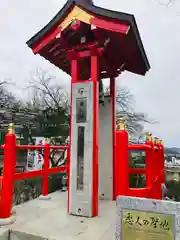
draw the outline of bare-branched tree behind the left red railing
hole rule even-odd
[[[62,145],[64,144],[65,138],[67,137],[67,129],[69,129],[69,97],[65,89],[56,83],[56,78],[51,76],[48,72],[43,70],[36,70],[35,74],[31,75],[29,82],[29,89],[32,91],[32,98],[30,101],[24,104],[26,112],[32,112],[35,116],[34,125],[38,125],[39,132],[43,134],[43,129],[49,123],[53,124],[55,121],[55,131],[58,134],[62,132],[63,128],[66,128],[65,136],[50,137],[50,144]],[[65,126],[66,125],[66,126]],[[34,143],[32,137],[32,126],[27,125],[26,129],[29,133],[29,139],[32,144]],[[59,131],[61,130],[61,131]],[[41,151],[42,156],[44,155]],[[56,149],[50,152],[51,165],[59,166],[64,164],[65,153]]]

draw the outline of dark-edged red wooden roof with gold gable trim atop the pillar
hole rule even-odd
[[[78,9],[81,11],[81,15],[79,15],[80,19],[78,19],[81,21],[81,28],[75,33],[69,29],[70,23],[68,22],[69,19],[73,17],[72,12],[75,12],[74,9],[76,12]],[[84,18],[82,18],[82,15]],[[103,59],[101,61],[101,78],[103,78],[103,72],[106,72],[107,70],[105,67],[106,64],[115,66],[116,69],[114,70],[114,73],[117,75],[120,74],[121,70],[145,75],[145,73],[150,69],[150,65],[134,16],[131,14],[96,7],[89,1],[84,2],[80,0],[69,0],[61,11],[59,11],[59,13],[49,22],[49,24],[47,24],[27,42],[27,45],[33,50],[36,49],[36,52],[34,51],[35,53],[40,54],[67,74],[70,74],[70,63],[67,59],[66,51],[70,47],[73,48],[76,46],[75,35],[77,41],[84,35],[86,38],[92,38],[92,40],[94,39],[99,41],[97,36],[94,35],[94,32],[91,32],[90,30],[92,22],[89,21],[92,21],[92,17],[94,19],[100,19],[100,21],[105,20],[110,23],[112,22],[115,27],[118,23],[122,24],[122,26],[129,26],[127,34],[117,32],[116,29],[113,31],[112,28],[97,28],[97,31],[99,31],[102,36],[106,38],[109,37],[111,39],[111,42],[104,52]],[[74,36],[69,37],[68,32],[69,35],[74,34]],[[60,35],[59,38],[57,38],[58,34]],[[48,39],[49,36],[51,37],[50,40]],[[49,42],[46,42],[46,39]],[[106,63],[103,60],[106,60]],[[122,65],[123,69],[120,69]],[[82,75],[84,75],[82,77],[87,78],[89,75],[88,60],[85,60],[83,63],[83,71],[84,69],[87,69],[87,73],[82,73]],[[107,73],[104,76],[109,77],[109,74]]]

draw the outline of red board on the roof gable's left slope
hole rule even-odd
[[[38,42],[35,46],[32,47],[33,53],[37,54],[42,48],[44,48],[48,43],[50,43],[55,37],[61,33],[61,29],[56,27],[52,31],[50,31],[46,36],[42,38],[40,42]]]

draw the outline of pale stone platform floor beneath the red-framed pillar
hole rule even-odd
[[[16,222],[1,227],[1,232],[25,232],[51,240],[110,240],[114,239],[116,203],[100,201],[99,217],[84,218],[66,213],[67,193],[57,191],[50,200],[35,199],[15,207]],[[1,239],[1,236],[0,236]],[[4,238],[2,238],[4,239]],[[15,237],[12,239],[41,239]]]

